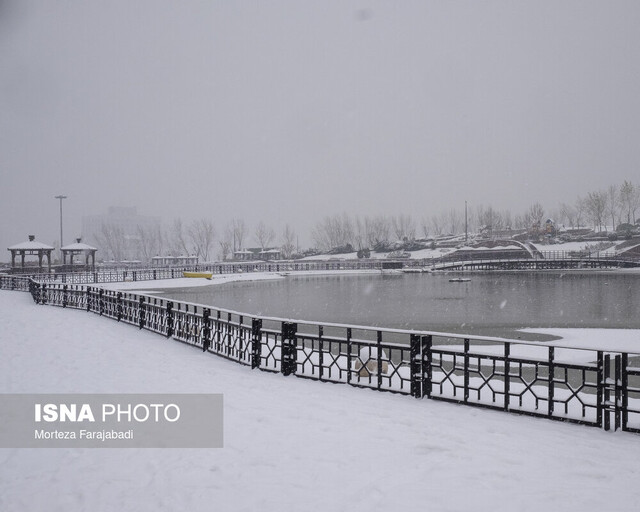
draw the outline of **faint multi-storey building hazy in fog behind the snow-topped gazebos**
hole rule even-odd
[[[82,217],[83,237],[100,249],[105,260],[145,259],[144,245],[149,252],[152,244],[148,239],[143,240],[141,232],[153,237],[159,230],[160,218],[140,215],[135,206],[111,206],[106,214]]]

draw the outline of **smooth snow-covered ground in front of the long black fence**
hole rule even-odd
[[[0,391],[223,393],[222,449],[3,449],[7,511],[596,511],[638,436],[251,371],[0,291]]]

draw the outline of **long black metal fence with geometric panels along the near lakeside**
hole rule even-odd
[[[640,432],[640,355],[500,338],[320,324],[100,287],[30,281],[86,309],[267,372]]]

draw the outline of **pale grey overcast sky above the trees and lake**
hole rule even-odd
[[[640,180],[640,2],[0,0],[0,247]],[[301,242],[302,242],[301,237]],[[309,240],[310,241],[310,240]]]

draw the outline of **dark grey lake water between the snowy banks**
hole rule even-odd
[[[459,275],[289,275],[159,295],[253,315],[477,335],[514,337],[522,327],[640,328],[640,274],[466,273],[471,281],[449,282]]]

